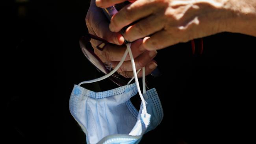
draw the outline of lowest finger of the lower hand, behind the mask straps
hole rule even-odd
[[[156,69],[157,66],[158,65],[156,61],[152,61],[151,63],[149,63],[147,66],[145,66],[145,75],[147,76],[148,74],[150,74],[154,69]],[[124,71],[120,74],[125,78],[132,78],[134,76],[133,71]],[[138,78],[142,77],[142,70],[137,74],[137,76]]]

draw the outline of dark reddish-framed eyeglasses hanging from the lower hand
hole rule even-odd
[[[95,40],[101,42],[100,44],[98,44],[96,46],[96,48],[100,51],[104,50],[104,48],[106,48],[106,46],[109,44],[109,42],[106,41],[105,39],[102,39],[100,37],[97,37],[97,36],[89,34],[89,33],[80,39],[80,48],[81,48],[83,54],[85,55],[85,57],[96,67],[96,69],[99,72],[108,74],[112,69],[111,63],[103,63],[100,60],[100,58],[94,53],[94,50],[90,43],[91,39],[95,39]],[[192,46],[192,53],[193,53],[193,55],[195,55],[195,41],[194,40],[191,41],[191,46]],[[199,54],[202,54],[202,50],[203,50],[203,40],[200,39]],[[160,75],[161,75],[161,73],[158,70],[158,68],[156,68],[151,73],[151,76],[153,76],[153,77],[158,77]],[[119,75],[117,72],[115,72],[112,76],[110,76],[109,79],[111,81],[113,81],[115,84],[119,85],[120,87],[127,85],[127,83],[130,80],[128,78],[124,78],[123,76]],[[148,85],[147,80],[146,80],[146,83]]]

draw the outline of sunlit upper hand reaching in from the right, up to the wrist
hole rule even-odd
[[[125,0],[96,0],[108,7]],[[113,32],[129,26],[124,38],[130,42],[143,39],[143,47],[156,50],[213,35],[226,30],[232,12],[227,0],[137,0],[115,14],[109,25]],[[148,37],[149,36],[149,37]]]

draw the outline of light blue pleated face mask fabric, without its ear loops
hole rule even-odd
[[[105,92],[74,86],[69,109],[88,144],[137,144],[144,133],[160,124],[163,109],[156,89],[143,94],[147,113],[142,105],[139,112],[132,105],[130,98],[136,93],[135,83]]]

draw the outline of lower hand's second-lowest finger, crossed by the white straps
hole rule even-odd
[[[147,51],[139,55],[138,57],[136,57],[134,59],[136,70],[139,70],[144,66],[146,66],[148,63],[150,63],[150,61],[152,61],[152,59],[156,57],[156,54],[157,54],[156,50]],[[113,67],[116,67],[119,61],[112,61],[111,63]],[[131,61],[124,61],[124,63],[121,65],[121,67],[119,68],[119,72],[124,72],[124,71],[132,71]]]

